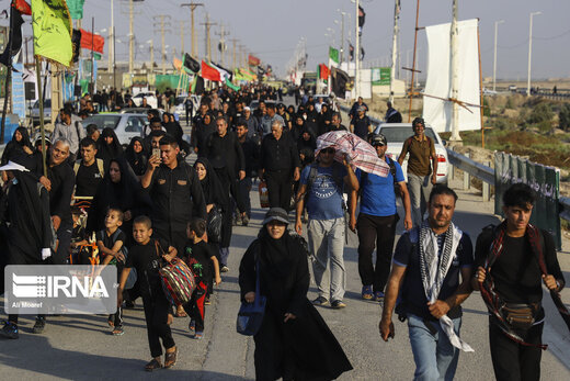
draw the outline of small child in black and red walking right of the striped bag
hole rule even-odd
[[[205,233],[206,221],[192,218],[186,228],[189,242],[184,248],[184,260],[196,281],[196,289],[192,293],[190,302],[184,305],[184,310],[190,315],[190,333],[196,339],[204,336],[204,300],[208,284],[213,279],[216,284],[221,282],[216,251],[203,239]],[[214,269],[214,273],[212,273],[212,269]]]

